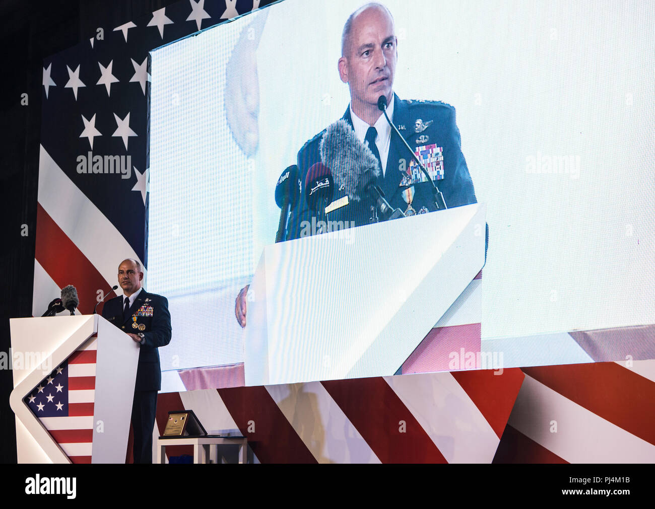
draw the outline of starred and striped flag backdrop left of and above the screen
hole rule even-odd
[[[182,0],[45,59],[33,315],[68,284],[92,313],[118,262],[147,267],[149,52],[270,3]]]

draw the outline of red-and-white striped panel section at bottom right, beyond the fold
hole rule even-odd
[[[523,368],[500,461],[653,463],[655,360]]]

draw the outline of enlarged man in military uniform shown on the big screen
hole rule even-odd
[[[394,20],[386,7],[368,3],[348,17],[341,38],[339,77],[350,88],[350,105],[343,120],[354,129],[358,139],[367,143],[381,168],[378,184],[387,202],[405,215],[437,209],[432,184],[415,165],[407,147],[392,132],[378,107],[386,98],[387,114],[410,147],[415,151],[430,178],[436,182],[447,207],[477,203],[471,177],[460,148],[455,124],[455,109],[436,101],[403,101],[393,91],[398,39]],[[291,213],[286,239],[295,239],[310,230],[314,212],[307,205],[305,177],[313,164],[321,161],[320,143],[325,131],[310,139],[298,152],[301,197]],[[371,200],[349,200],[345,190],[337,189],[326,211],[328,222],[361,226],[379,219]],[[311,232],[314,234],[316,232]],[[234,315],[246,325],[246,286],[238,294]]]

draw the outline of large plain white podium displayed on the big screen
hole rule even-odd
[[[481,270],[485,224],[476,203],[265,247],[246,385],[394,374]]]

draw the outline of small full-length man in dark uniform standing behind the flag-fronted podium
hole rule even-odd
[[[105,303],[102,316],[139,343],[139,365],[132,401],[134,463],[153,463],[153,428],[157,391],[161,389],[161,368],[157,348],[170,343],[168,300],[141,287],[143,270],[128,258],[119,265],[123,295]]]

